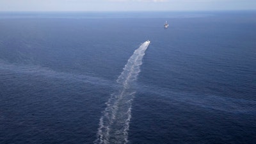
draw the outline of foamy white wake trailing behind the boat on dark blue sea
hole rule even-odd
[[[127,61],[124,71],[116,80],[117,83],[122,84],[122,88],[118,92],[112,93],[106,102],[106,108],[100,118],[95,144],[128,143],[131,106],[136,93],[132,88],[132,83],[136,81],[140,73],[140,65],[149,44],[150,41],[144,42],[134,51]]]

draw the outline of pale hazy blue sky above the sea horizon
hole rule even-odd
[[[256,0],[0,0],[0,11],[256,10]]]

